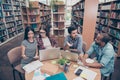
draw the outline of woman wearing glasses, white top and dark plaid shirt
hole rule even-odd
[[[37,38],[39,50],[57,47],[57,42],[49,36],[49,31],[46,28],[41,28],[39,33],[39,37]]]

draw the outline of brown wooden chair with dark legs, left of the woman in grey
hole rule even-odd
[[[16,72],[19,74],[20,79],[23,80],[22,74],[24,74],[24,70],[22,69],[21,64],[20,64],[21,58],[22,58],[21,54],[22,54],[21,47],[15,47],[7,53],[9,62],[13,68],[14,80],[16,80],[15,78]]]

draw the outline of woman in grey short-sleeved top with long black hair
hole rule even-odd
[[[34,39],[34,29],[30,26],[25,28],[24,40],[21,44],[22,60],[21,66],[24,67],[31,61],[38,59],[37,41]]]

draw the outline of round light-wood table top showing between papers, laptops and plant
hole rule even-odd
[[[43,64],[45,64],[45,63],[52,64],[52,61],[56,61],[56,60],[47,60],[47,61],[43,61],[42,63]],[[58,64],[54,64],[54,65],[58,66]],[[74,67],[74,65],[78,65],[78,64],[76,62],[71,62],[70,66],[69,66],[69,72],[65,73],[67,80],[73,80],[74,78],[78,77],[74,74],[74,71],[77,68],[77,67]],[[96,68],[88,68],[88,69],[97,73],[95,80],[101,80],[100,69],[96,69]],[[59,68],[57,73],[59,73],[59,72],[63,72],[63,69]],[[34,75],[34,71],[31,73],[25,73],[25,80],[32,80],[33,75]]]

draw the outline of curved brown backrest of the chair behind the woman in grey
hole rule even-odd
[[[14,63],[20,63],[21,62],[21,55],[22,55],[22,50],[21,47],[15,47],[13,49],[11,49],[8,53],[8,59],[10,61],[10,64],[14,64]]]

